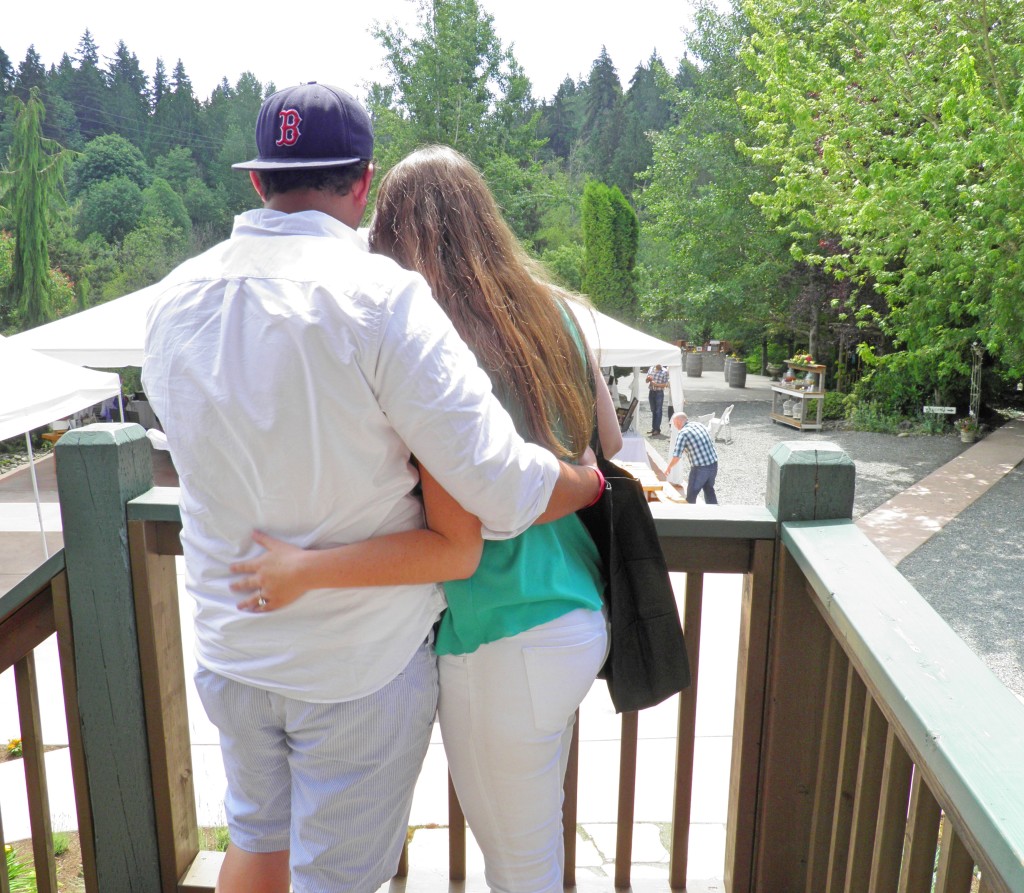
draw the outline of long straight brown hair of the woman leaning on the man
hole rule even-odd
[[[399,162],[377,194],[370,247],[426,279],[480,365],[521,406],[528,436],[579,458],[594,425],[594,391],[569,330],[572,311],[473,164],[443,145]]]

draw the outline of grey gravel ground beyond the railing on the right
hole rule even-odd
[[[722,411],[722,399],[688,399],[686,412]],[[638,429],[650,430],[641,405]],[[736,401],[732,442],[718,443],[719,501],[764,505],[768,454],[782,440],[828,440],[856,465],[854,518],[878,508],[968,449],[955,435],[894,436],[827,428],[800,432],[768,418],[763,400]],[[668,425],[663,425],[668,430]],[[648,438],[668,461],[671,439]],[[899,564],[900,572],[992,673],[1024,700],[1024,465],[1018,466]]]

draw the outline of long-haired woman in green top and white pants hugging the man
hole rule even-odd
[[[370,245],[423,274],[523,437],[578,461],[596,412],[605,455],[618,452],[610,394],[564,296],[525,255],[467,159],[433,146],[393,168]],[[479,523],[427,469],[423,495],[428,530],[318,553],[259,536],[268,551],[236,566],[249,575],[236,587],[276,606],[328,585],[449,581],[436,639],[438,717],[487,884],[560,891],[572,722],[607,652],[597,551],[569,515],[487,541],[481,552]],[[241,606],[258,604],[250,597]]]

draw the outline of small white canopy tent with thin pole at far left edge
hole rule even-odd
[[[0,336],[0,381],[3,382],[0,391],[0,440],[25,434],[36,513],[39,515],[39,529],[44,534],[43,551],[46,552],[39,483],[29,433],[33,428],[48,425],[108,397],[120,397],[121,378],[113,372],[95,372],[44,356],[15,343],[13,338]]]

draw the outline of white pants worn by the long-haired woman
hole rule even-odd
[[[607,647],[604,615],[580,609],[438,658],[444,751],[494,893],[561,893],[572,723]]]

